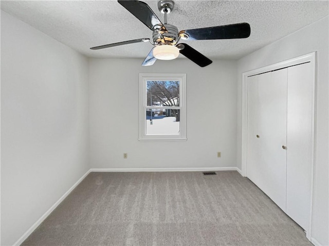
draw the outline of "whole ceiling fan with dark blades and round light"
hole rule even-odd
[[[154,47],[143,61],[142,66],[151,66],[155,63],[156,59],[175,59],[180,53],[200,67],[206,67],[212,63],[212,60],[187,44],[178,44],[180,39],[231,39],[246,38],[250,35],[250,26],[248,23],[189,29],[178,32],[177,27],[167,23],[167,14],[169,14],[174,8],[174,2],[170,0],[161,0],[158,2],[159,11],[165,15],[164,24],[161,23],[149,5],[144,2],[118,0],[118,3],[153,31],[152,40],[150,38],[139,38],[114,44],[96,46],[90,49],[99,50],[119,45],[150,42]]]

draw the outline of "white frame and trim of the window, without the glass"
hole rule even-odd
[[[147,81],[179,81],[179,107],[161,107],[180,110],[179,135],[147,135],[146,110],[159,109],[147,106]],[[140,73],[139,74],[139,141],[186,141],[186,74],[185,73]]]

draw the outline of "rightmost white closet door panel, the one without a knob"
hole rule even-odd
[[[313,95],[314,84],[310,64],[289,67],[286,213],[304,230],[308,230],[310,216]]]

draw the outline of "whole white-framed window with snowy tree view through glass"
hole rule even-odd
[[[186,74],[139,74],[139,140],[186,140]]]

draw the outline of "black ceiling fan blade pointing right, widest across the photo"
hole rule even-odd
[[[182,30],[179,32],[179,35],[189,40],[246,38],[250,36],[250,25],[248,23],[239,23],[226,26]]]

